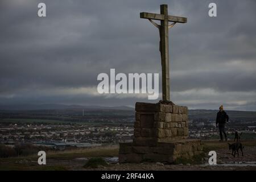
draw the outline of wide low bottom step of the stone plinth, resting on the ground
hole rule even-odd
[[[201,140],[173,140],[166,143],[120,143],[119,163],[174,163],[177,158],[191,159],[203,152]]]

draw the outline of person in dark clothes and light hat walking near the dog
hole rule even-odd
[[[220,141],[223,141],[223,135],[225,136],[225,140],[228,140],[226,137],[226,131],[225,131],[225,123],[229,122],[229,116],[226,114],[226,112],[223,110],[223,106],[221,105],[219,107],[219,111],[217,113],[216,117],[216,127],[218,127],[218,131],[220,131]]]

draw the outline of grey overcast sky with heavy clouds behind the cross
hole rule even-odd
[[[46,18],[37,15],[39,2]],[[210,2],[217,17],[208,16]],[[161,73],[158,30],[139,13],[160,13],[163,3],[170,15],[188,18],[169,31],[171,100],[255,111],[255,0],[1,0],[0,105],[158,102],[161,96],[100,95],[97,75]]]

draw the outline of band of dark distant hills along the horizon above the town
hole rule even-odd
[[[19,113],[30,115],[35,113],[40,113],[43,115],[56,115],[56,114],[69,114],[69,115],[79,115],[81,110],[84,109],[85,113],[95,118],[101,115],[102,118],[108,116],[112,118],[117,117],[134,117],[135,110],[133,107],[128,106],[83,106],[83,105],[62,105],[62,104],[42,104],[42,105],[0,105],[1,113]],[[46,112],[47,110],[47,112]],[[205,109],[195,109],[188,111],[189,119],[195,119],[197,121],[215,121],[216,114],[218,110],[205,110]],[[228,113],[230,121],[242,121],[242,122],[255,122],[256,123],[256,111],[236,111],[236,110],[226,110]],[[18,117],[18,116],[17,116]],[[20,115],[19,115],[20,117]]]

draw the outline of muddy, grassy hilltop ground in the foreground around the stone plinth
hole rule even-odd
[[[245,146],[244,156],[239,158],[233,158],[232,151],[228,150],[228,142],[202,140],[202,143],[204,158],[196,159],[197,161],[181,160],[176,164],[119,164],[116,161],[119,146],[114,145],[51,151],[47,153],[47,164],[42,166],[37,162],[37,155],[0,158],[0,170],[256,170],[256,140],[242,142]],[[217,152],[217,166],[205,165],[208,163],[210,150]]]

